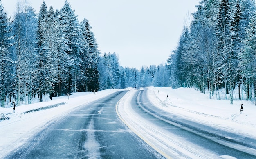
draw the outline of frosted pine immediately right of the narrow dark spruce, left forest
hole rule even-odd
[[[52,69],[56,72],[53,96],[62,96],[62,83],[67,81],[68,68],[73,64],[70,56],[67,54],[70,48],[67,44],[68,40],[65,38],[60,12],[58,10],[54,12],[52,6],[49,8],[46,23],[48,30],[47,47],[49,48],[49,54],[52,56]],[[50,95],[51,97],[52,95]]]

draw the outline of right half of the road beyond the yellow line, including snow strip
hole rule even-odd
[[[148,102],[144,90],[126,94],[117,111],[132,131],[166,158],[256,158],[255,139],[162,111]]]

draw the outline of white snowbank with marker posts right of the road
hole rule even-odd
[[[241,100],[230,105],[229,100],[209,99],[209,94],[193,88],[148,87],[148,90],[153,105],[164,111],[256,138],[256,107],[250,101],[243,101],[240,114]]]

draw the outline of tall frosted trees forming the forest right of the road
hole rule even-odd
[[[168,59],[171,85],[196,87],[230,103],[256,97],[256,9],[254,0],[201,0]],[[244,97],[243,94],[246,94]]]

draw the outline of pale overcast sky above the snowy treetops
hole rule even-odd
[[[2,0],[9,16],[17,0]],[[43,0],[27,0],[39,12]],[[99,50],[116,52],[122,66],[130,68],[165,63],[175,49],[188,13],[199,0],[68,0],[78,20],[92,25]],[[61,9],[65,0],[45,0]]]

